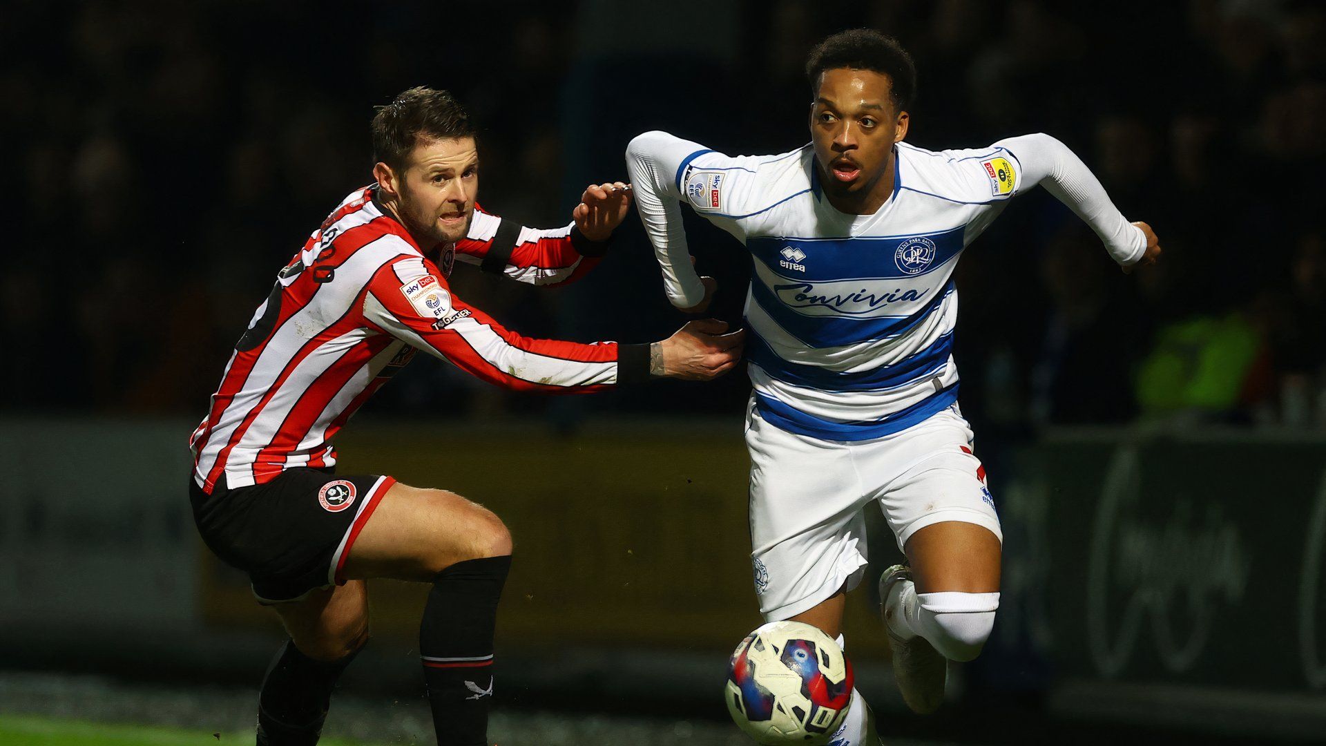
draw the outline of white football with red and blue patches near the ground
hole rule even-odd
[[[831,637],[800,621],[772,621],[732,653],[724,694],[756,743],[823,746],[847,717],[851,688],[851,662]]]

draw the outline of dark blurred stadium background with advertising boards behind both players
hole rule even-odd
[[[956,356],[1005,523],[1004,603],[947,714],[919,719],[870,584],[854,595],[849,653],[883,733],[1322,738],[1322,4],[17,0],[0,23],[17,228],[0,742],[65,721],[249,725],[278,632],[196,540],[183,443],[274,272],[370,179],[374,105],[451,89],[481,127],[483,204],[556,226],[586,183],[625,177],[647,129],[727,153],[804,143],[805,54],[855,25],[916,58],[910,142],[1054,134],[1166,247],[1123,276],[1037,190],[965,254]],[[737,321],[748,259],[691,218],[715,313]],[[573,287],[455,284],[529,336],[647,341],[684,320],[634,216]],[[347,427],[345,469],[455,488],[512,526],[499,743],[741,742],[719,688],[758,623],[745,397],[733,374],[536,398],[420,358]],[[424,733],[419,597],[374,588],[378,636],[329,733]]]

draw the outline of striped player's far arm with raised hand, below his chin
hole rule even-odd
[[[534,285],[573,283],[607,254],[630,207],[631,187],[622,182],[590,185],[573,220],[560,228],[529,228],[476,204],[469,234],[456,242],[456,259]]]

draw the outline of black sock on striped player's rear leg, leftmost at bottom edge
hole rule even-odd
[[[313,746],[332,704],[332,689],[354,656],[316,661],[285,641],[267,669],[257,697],[257,746]]]

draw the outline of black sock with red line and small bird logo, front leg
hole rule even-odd
[[[511,556],[438,573],[419,624],[419,654],[439,746],[488,746],[493,627]]]

